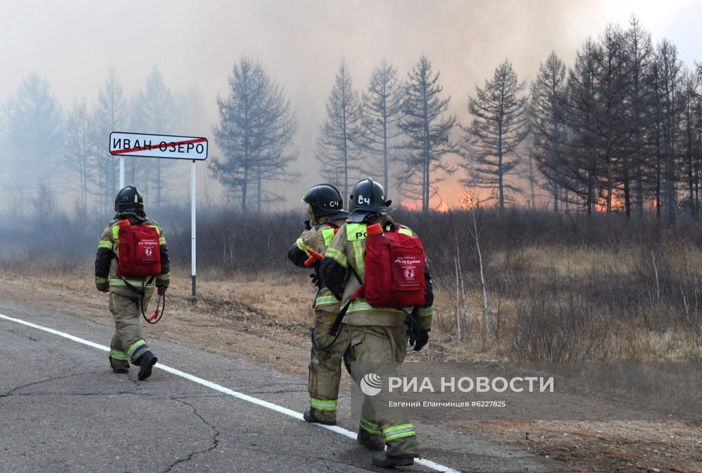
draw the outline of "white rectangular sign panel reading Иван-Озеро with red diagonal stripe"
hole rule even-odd
[[[204,161],[207,159],[207,138],[145,133],[110,133],[112,156],[141,156]]]

